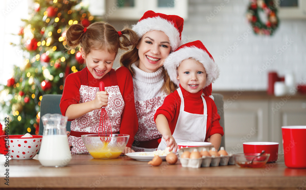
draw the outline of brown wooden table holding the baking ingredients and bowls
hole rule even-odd
[[[283,161],[264,168],[235,165],[184,168],[179,161],[152,167],[147,162],[120,156],[93,159],[91,155],[72,155],[69,165],[43,167],[36,155],[30,160],[9,160],[0,155],[0,188],[10,189],[306,189],[306,169],[290,169]],[[5,176],[5,169],[9,175]],[[9,186],[5,185],[8,177]],[[5,179],[3,179],[5,178]]]

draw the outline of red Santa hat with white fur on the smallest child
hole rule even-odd
[[[177,67],[183,60],[189,58],[195,59],[203,64],[207,77],[206,85],[202,91],[205,96],[210,96],[211,83],[215,82],[215,80],[219,77],[220,71],[213,57],[200,40],[181,45],[175,52],[170,53],[164,62],[164,68],[168,72],[171,81],[179,86],[180,81],[177,80]]]

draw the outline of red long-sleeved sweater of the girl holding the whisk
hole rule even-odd
[[[95,79],[87,70],[88,86],[99,87],[101,81],[105,86],[110,86],[110,75],[107,73],[102,79]],[[126,67],[120,67],[116,70],[117,83],[120,93],[124,100],[124,108],[121,114],[121,124],[119,133],[130,135],[128,144],[131,147],[134,141],[134,136],[138,130],[138,119],[134,102],[133,80],[132,75]],[[80,86],[81,86],[81,72],[71,73],[65,80],[65,86],[60,103],[62,115],[65,115],[67,108],[71,104],[78,104],[80,102]],[[73,119],[72,119],[73,120]],[[72,121],[70,120],[70,121]]]

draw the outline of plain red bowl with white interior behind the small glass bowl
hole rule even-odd
[[[243,143],[244,153],[261,153],[266,151],[270,154],[268,159],[269,162],[276,162],[278,158],[278,143],[276,142],[245,142]]]

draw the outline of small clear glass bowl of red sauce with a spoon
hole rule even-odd
[[[270,154],[259,155],[260,153],[240,153],[234,154],[233,157],[237,166],[243,168],[260,168],[266,165]],[[251,163],[252,159],[254,160]]]

